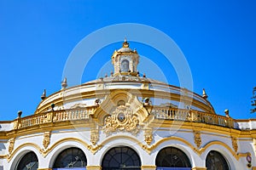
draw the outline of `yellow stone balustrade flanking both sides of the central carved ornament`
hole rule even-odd
[[[26,116],[22,118],[17,118],[14,121],[14,129],[32,127],[36,125],[41,125],[45,123],[55,123],[55,122],[71,122],[79,120],[89,120],[90,115],[94,113],[97,106],[91,106],[86,108],[76,108],[60,111],[48,111],[32,116]],[[173,120],[173,121],[183,121],[183,122],[202,122],[212,125],[217,125],[221,127],[239,128],[236,120],[226,117],[219,116],[212,113],[206,113],[194,110],[184,110],[169,107],[151,106],[151,114],[154,115],[156,119],[162,120]]]

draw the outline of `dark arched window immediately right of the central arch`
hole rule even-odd
[[[160,150],[156,156],[155,165],[158,170],[191,169],[189,157],[182,150],[174,147],[166,147]]]

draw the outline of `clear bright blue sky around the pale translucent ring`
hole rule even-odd
[[[172,37],[188,60],[193,90],[201,94],[206,88],[219,115],[229,109],[234,118],[256,118],[249,111],[256,86],[255,9],[253,0],[2,0],[0,120],[15,119],[17,111],[32,115],[44,88],[47,95],[61,89],[63,69],[73,48],[91,32],[120,23],[152,26]],[[129,41],[129,35],[124,37]],[[99,71],[121,41],[102,47],[90,60],[92,69],[84,70],[82,82],[103,76]],[[130,45],[154,60],[169,83],[178,85],[175,71],[172,66],[165,68],[159,52],[138,42]]]

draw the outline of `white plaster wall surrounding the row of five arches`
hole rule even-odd
[[[153,144],[157,143],[160,139],[163,139],[166,137],[178,137],[179,139],[184,139],[196,148],[194,144],[194,133],[192,131],[189,131],[188,129],[179,129],[176,133],[173,133],[172,135],[170,135],[170,131],[168,130],[168,128],[166,128],[166,130],[162,128],[159,132],[154,133]],[[61,141],[62,139],[67,139],[67,138],[81,139],[85,143],[91,144],[90,128],[84,127],[84,128],[77,128],[77,129],[67,129],[67,130],[62,129],[59,131],[53,131],[51,133],[49,147],[51,147],[56,142]],[[40,148],[44,148],[43,139],[44,139],[44,133],[35,133],[32,135],[17,137],[15,139],[15,149],[18,148],[21,144],[27,144],[27,143],[38,144]],[[220,141],[224,144],[228,144],[230,149],[234,150],[230,137],[227,137],[225,135],[218,136],[217,134],[211,135],[210,133],[202,132],[201,139],[202,139],[201,146],[204,146],[205,144],[208,144],[212,141]],[[137,152],[138,156],[140,156],[142,165],[154,165],[155,158],[158,152],[167,146],[173,146],[173,147],[177,147],[180,150],[183,150],[183,152],[189,157],[189,161],[192,167],[205,167],[207,154],[211,150],[217,150],[218,152],[220,152],[230,164],[231,169],[245,169],[247,165],[246,157],[241,157],[239,160],[236,160],[236,158],[232,155],[232,153],[230,153],[230,150],[225,148],[223,145],[219,145],[219,144],[212,144],[206,150],[204,150],[201,153],[201,155],[198,155],[197,153],[195,153],[193,149],[190,148],[189,145],[185,144],[183,141],[170,138],[169,140],[161,142],[159,145],[157,145],[157,147],[154,150],[152,150],[150,154],[148,154],[146,150],[143,150],[143,148],[139,144],[137,144],[137,142],[146,144],[143,140],[144,140],[144,136],[142,132],[138,133],[137,135],[133,135],[131,133],[118,132],[118,133],[113,133],[112,135],[109,135],[109,136],[106,136],[105,133],[100,132],[100,139],[97,144],[102,144],[103,142],[104,146],[100,150],[98,150],[95,154],[93,154],[90,150],[88,150],[86,146],[84,146],[84,144],[81,144],[78,141],[62,140],[63,142],[56,145],[55,148],[53,148],[53,150],[51,150],[49,154],[45,157],[42,156],[42,154],[40,154],[39,151],[36,148],[34,148],[32,145],[25,145],[20,150],[17,150],[17,152],[15,153],[13,158],[9,161],[9,163],[5,159],[0,161],[3,161],[4,170],[15,169],[15,165],[20,161],[20,158],[24,156],[28,151],[32,150],[38,156],[39,168],[47,168],[47,167],[53,166],[55,158],[58,156],[58,154],[61,153],[62,150],[65,150],[70,147],[78,147],[84,151],[84,154],[87,157],[88,166],[101,166],[103,156],[108,152],[108,150],[110,150],[115,146],[129,146]],[[243,140],[238,139],[237,142],[238,142],[238,152],[247,153],[249,151],[252,154],[253,165],[254,165],[256,160],[253,152],[252,139],[243,139]],[[5,150],[8,150],[7,145]]]

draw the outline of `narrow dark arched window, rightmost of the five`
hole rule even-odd
[[[218,151],[210,151],[207,155],[207,170],[230,170],[230,167]]]

